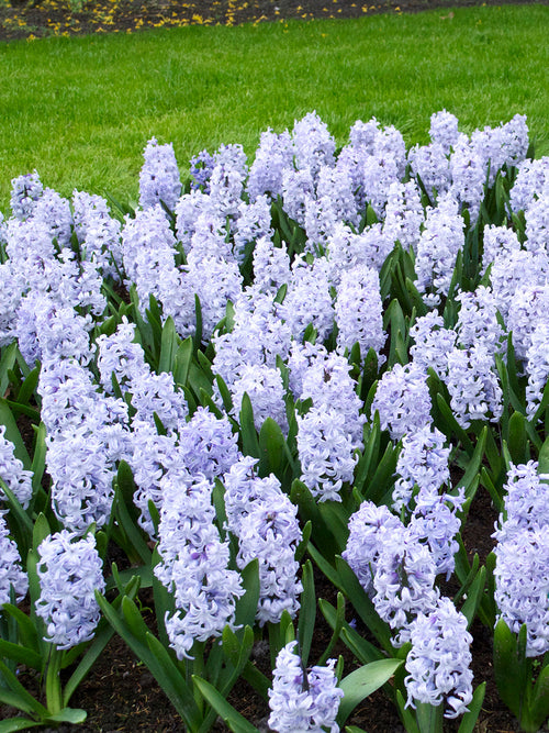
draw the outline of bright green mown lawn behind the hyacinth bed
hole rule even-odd
[[[0,209],[37,169],[74,188],[137,196],[142,151],[172,142],[181,171],[222,143],[253,155],[316,110],[338,143],[374,115],[407,144],[446,108],[470,132],[526,113],[549,154],[549,7],[432,11],[0,44]]]

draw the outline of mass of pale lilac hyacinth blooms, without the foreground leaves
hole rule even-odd
[[[410,646],[407,707],[444,706],[447,717],[468,710],[469,624],[439,589],[455,571],[466,496],[450,479],[456,445],[434,424],[428,380],[446,390],[461,431],[479,422],[497,431],[505,410],[497,364],[512,334],[536,430],[549,376],[549,159],[526,158],[520,115],[466,135],[438,112],[430,141],[406,151],[397,130],[372,119],[356,122],[337,151],[311,113],[291,132],[264,132],[251,165],[239,145],[202,152],[186,191],[172,146],[153,138],[139,204],[124,218],[99,196],[61,198],[37,174],[14,179],[11,216],[0,221],[0,345],[15,341],[30,368],[40,364],[36,403],[59,529],[38,547],[36,613],[58,648],[93,636],[94,591],[104,590],[107,570],[89,530],[111,521],[122,460],[133,473],[141,531],[157,545],[156,578],[172,597],[165,623],[179,659],[193,656],[197,641],[236,628],[240,570],[254,558],[257,625],[276,624],[284,611],[296,618],[303,522],[280,477],[260,475],[257,457],[245,454],[243,398],[258,432],[271,419],[295,446],[292,478],[334,507],[349,506],[378,413],[397,451],[392,492],[354,507],[343,557],[393,646]],[[509,171],[503,223],[480,227],[488,188]],[[478,278],[467,290],[455,268],[475,227]],[[422,303],[405,358],[391,357],[384,321],[383,267],[395,245],[413,263]],[[126,303],[120,315],[113,289],[132,291],[138,306]],[[171,318],[181,340],[199,334],[209,354],[213,381],[202,404],[153,363],[142,333],[152,297],[163,322]],[[356,344],[358,368],[349,358]],[[378,381],[366,399],[358,384],[372,354]],[[494,535],[498,618],[516,632],[527,624],[530,656],[549,649],[548,489],[537,469],[509,466]],[[27,508],[32,475],[4,430],[0,476]],[[0,602],[27,588],[7,510]],[[313,668],[306,684],[295,644],[280,652],[272,730],[339,730],[333,667]]]

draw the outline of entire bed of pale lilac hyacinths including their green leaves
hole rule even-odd
[[[441,111],[430,138],[372,119],[338,149],[310,113],[251,164],[201,152],[187,184],[153,138],[136,210],[13,181],[2,730],[83,721],[70,697],[117,633],[193,733],[257,730],[227,701],[240,678],[279,733],[357,733],[382,686],[411,733],[466,733],[477,619],[522,730],[547,720],[549,159],[520,115],[466,135]],[[482,563],[461,540],[478,491],[500,512]]]

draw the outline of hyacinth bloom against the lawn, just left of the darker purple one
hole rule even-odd
[[[143,156],[145,162],[139,173],[139,206],[148,209],[164,202],[172,211],[181,195],[173,145],[158,145],[156,137],[152,137]]]

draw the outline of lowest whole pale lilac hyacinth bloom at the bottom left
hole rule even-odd
[[[44,640],[68,649],[93,637],[100,610],[94,591],[105,582],[96,538],[68,530],[51,534],[38,545],[41,595],[36,614],[46,625]]]

